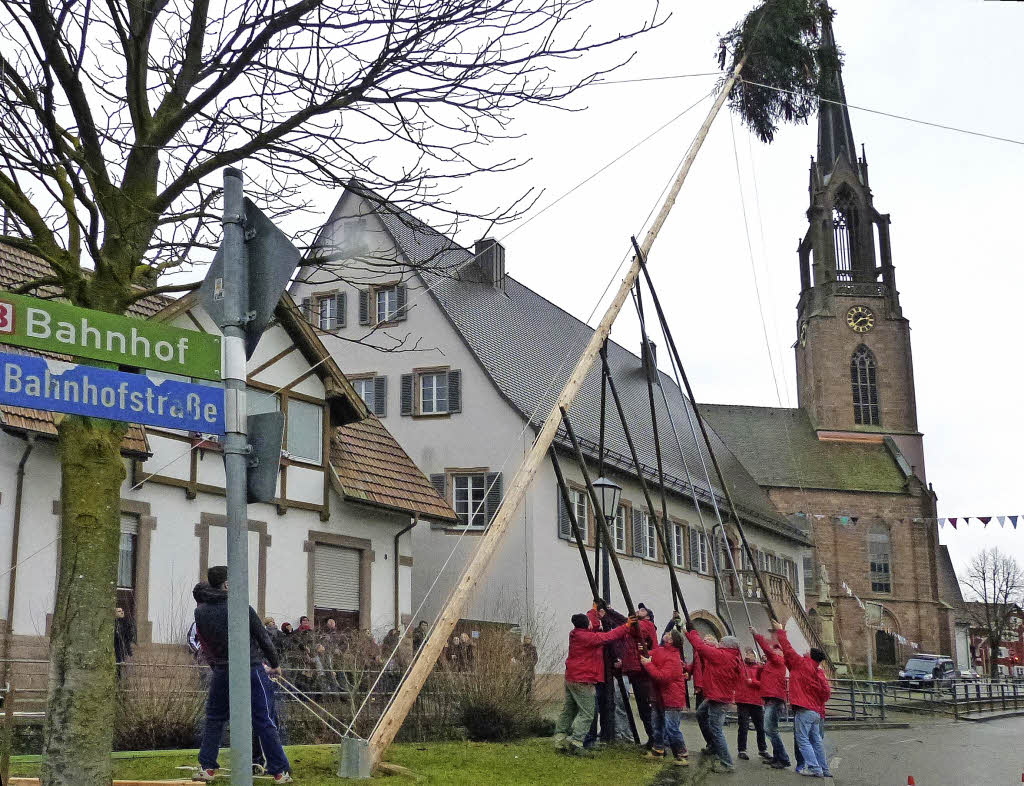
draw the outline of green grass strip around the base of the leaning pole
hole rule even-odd
[[[304,786],[339,786],[338,747],[335,745],[296,745],[286,748],[292,761],[293,775]],[[650,783],[660,769],[641,759],[639,753],[626,750],[604,750],[593,757],[569,757],[556,753],[550,739],[530,739],[517,743],[404,743],[393,745],[388,761],[407,767],[427,784],[462,785],[485,783],[488,786],[518,786],[543,783],[618,784]],[[227,765],[229,753],[221,751],[221,763]],[[175,767],[195,766],[197,751],[142,751],[138,754],[115,755],[114,777],[119,779],[169,780],[186,773]],[[11,759],[11,774],[22,777],[39,775],[38,756],[16,756]],[[382,779],[383,780],[383,779]],[[387,778],[389,784],[412,784],[411,778]]]

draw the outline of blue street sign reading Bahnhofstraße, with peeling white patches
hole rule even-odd
[[[224,433],[224,390],[0,352],[0,404]]]

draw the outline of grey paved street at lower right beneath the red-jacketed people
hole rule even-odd
[[[695,724],[683,733],[697,763],[700,736]],[[735,727],[727,729],[735,754]],[[984,724],[953,720],[914,722],[910,729],[846,730],[829,732],[828,752],[834,780],[842,786],[903,786],[913,776],[918,786],[1000,786],[1021,783],[1024,773],[1024,717]],[[792,755],[792,733],[785,735]],[[771,770],[756,762],[737,761],[736,775],[710,775],[696,767],[665,772],[657,786],[705,783],[781,786],[814,782],[792,770]]]

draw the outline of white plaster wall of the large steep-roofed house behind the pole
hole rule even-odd
[[[292,297],[301,302],[316,292],[346,293],[346,326],[337,332],[338,337],[322,334],[322,339],[346,374],[374,373],[387,377],[384,424],[424,473],[440,473],[454,467],[501,469],[507,489],[535,433],[532,430],[523,433],[524,419],[501,396],[445,315],[423,291],[419,278],[410,277],[408,271],[402,276],[409,286],[410,303],[404,321],[369,337],[369,329],[358,324],[357,288],[394,280],[402,271],[400,265],[381,270],[382,261],[398,260],[398,257],[377,218],[366,215],[369,212],[365,203],[347,196],[336,208],[323,236],[329,244],[332,237],[338,239],[349,232],[352,224],[348,219],[360,216],[364,229],[358,241],[368,256],[376,258],[378,266],[368,265],[365,259],[349,259],[334,262],[335,267],[330,271],[304,269],[292,288]],[[352,238],[343,239],[351,248]],[[419,342],[418,346],[426,349],[382,352],[374,346],[354,343],[359,339],[365,339],[366,344],[384,347],[394,346],[397,339],[406,339],[407,347]],[[400,416],[400,376],[415,367],[431,365],[462,369],[463,411],[436,420]],[[563,462],[567,477],[582,482],[582,476],[571,469],[571,464]],[[643,506],[639,486],[620,482],[624,485],[624,497]],[[557,537],[556,492],[553,471],[550,464],[545,463],[485,576],[478,583],[476,600],[463,616],[502,619],[510,610],[515,610],[518,618],[514,621],[529,624],[532,620],[549,626],[557,635],[544,637],[552,642],[547,659],[557,660],[561,668],[564,653],[558,657],[556,651],[565,646],[562,634],[567,631],[572,613],[589,608],[591,593],[574,544]],[[670,499],[672,516],[697,525],[692,506],[678,497]],[[655,505],[658,504],[659,499],[655,499]],[[705,519],[710,527],[711,519],[707,515]],[[752,545],[762,545],[779,556],[787,556],[800,565],[802,550],[792,541],[755,527],[748,528],[748,537]],[[460,536],[457,531],[431,529],[429,523],[421,523],[414,530],[414,623],[420,618],[432,619],[437,614],[478,541],[477,534],[470,532]],[[688,561],[688,554],[686,559]],[[667,621],[671,614],[668,568],[628,556],[623,557],[623,567],[634,602],[643,601],[655,609],[659,623]],[[713,613],[713,579],[686,570],[679,571],[678,575],[691,611]],[[613,575],[612,585],[612,600],[622,606]]]

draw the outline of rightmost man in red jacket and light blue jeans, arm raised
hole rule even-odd
[[[793,733],[797,747],[804,758],[803,768],[797,768],[801,775],[831,778],[828,759],[825,757],[824,716],[825,702],[831,695],[831,685],[821,661],[825,654],[811,647],[807,655],[800,655],[776,620],[772,627],[782,647],[782,657],[790,669],[790,703],[793,705]]]

